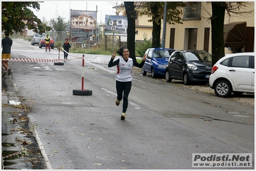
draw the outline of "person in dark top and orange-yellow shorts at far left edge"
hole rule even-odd
[[[2,39],[2,63],[4,66],[4,73],[8,73],[8,75],[11,74],[11,70],[9,69],[9,63],[8,60],[11,59],[11,47],[12,47],[12,39],[9,38],[9,33],[5,33],[5,37]],[[4,60],[7,59],[7,60]]]

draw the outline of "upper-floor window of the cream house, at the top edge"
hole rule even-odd
[[[201,19],[201,2],[189,2],[183,10],[183,20]]]

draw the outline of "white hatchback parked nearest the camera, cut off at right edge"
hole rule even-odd
[[[234,94],[254,93],[255,53],[226,54],[212,67],[209,86],[219,97]]]

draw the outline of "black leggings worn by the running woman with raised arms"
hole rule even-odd
[[[129,81],[129,82],[116,81],[115,87],[117,91],[117,100],[121,101],[122,99],[124,99],[123,113],[125,113],[128,107],[128,95],[130,94],[130,90],[132,88],[132,81]],[[123,93],[124,93],[124,96],[123,96]]]

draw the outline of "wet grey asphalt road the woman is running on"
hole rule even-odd
[[[13,58],[58,58],[56,49],[46,54],[24,44],[13,47]],[[121,106],[114,105],[116,69],[107,68],[108,58],[86,55],[83,70],[81,60],[63,66],[10,62],[19,96],[33,107],[28,115],[48,168],[193,169],[196,152],[254,155],[254,106],[162,79],[133,73],[128,117],[120,120]],[[81,88],[82,74],[92,96],[72,94]]]

